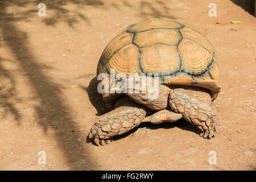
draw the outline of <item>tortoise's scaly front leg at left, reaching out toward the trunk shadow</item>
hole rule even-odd
[[[121,135],[138,126],[146,115],[146,108],[125,96],[118,98],[115,109],[96,118],[88,137],[97,145],[111,142],[112,137]]]

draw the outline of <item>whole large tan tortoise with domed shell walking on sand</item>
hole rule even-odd
[[[184,24],[152,18],[128,26],[105,47],[97,65],[97,75],[101,74],[114,76],[114,81],[101,80],[102,88],[109,91],[113,82],[118,85],[123,80],[120,74],[137,74],[140,79],[154,75],[158,85],[146,92],[141,92],[145,84],[139,83],[131,87],[131,93],[118,89],[102,93],[110,111],[96,118],[88,134],[97,145],[112,142],[115,135],[142,122],[159,124],[183,118],[203,138],[212,138],[219,130],[212,107],[221,90],[215,51],[204,35]],[[158,97],[150,98],[152,90]]]

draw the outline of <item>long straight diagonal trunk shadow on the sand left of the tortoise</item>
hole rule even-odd
[[[57,146],[62,150],[64,158],[72,170],[95,169],[94,164],[88,157],[89,151],[78,139],[83,138],[78,131],[76,123],[73,122],[72,115],[68,113],[68,106],[64,104],[60,94],[60,85],[51,81],[51,77],[42,72],[43,65],[40,65],[33,53],[27,48],[28,40],[26,32],[15,27],[16,19],[13,14],[7,13],[6,3],[0,3],[0,30],[5,43],[10,48],[14,59],[18,61],[20,72],[26,73],[28,81],[34,90],[35,99],[40,105],[35,105],[36,121],[44,129],[45,134],[52,128],[58,126],[55,131]],[[22,49],[20,49],[22,48]],[[5,74],[7,72],[1,72]],[[11,77],[10,77],[11,78]],[[14,84],[14,80],[11,81]],[[12,107],[11,105],[9,107]],[[15,109],[13,109],[15,111]]]

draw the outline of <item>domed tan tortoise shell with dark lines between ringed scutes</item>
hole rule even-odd
[[[206,88],[212,100],[221,89],[219,67],[209,40],[196,30],[169,20],[153,18],[128,26],[104,49],[97,75],[110,76],[110,69],[115,70],[115,75],[126,76],[159,73],[160,83]],[[103,97],[108,102],[106,98],[113,94]]]

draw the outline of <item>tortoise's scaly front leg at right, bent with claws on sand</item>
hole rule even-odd
[[[169,96],[171,109],[181,113],[184,119],[195,125],[203,138],[212,138],[220,126],[217,112],[209,105],[210,102],[210,97],[205,97],[200,92],[193,94],[181,88],[172,89]]]

